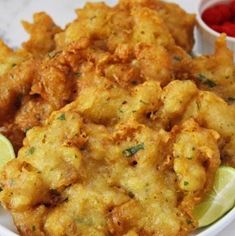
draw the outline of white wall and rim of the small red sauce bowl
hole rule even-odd
[[[215,41],[220,36],[220,33],[217,33],[211,29],[207,24],[202,20],[202,13],[208,7],[216,5],[217,3],[228,3],[231,0],[199,0],[198,9],[197,9],[197,53],[198,54],[212,54],[215,49]],[[235,56],[235,38],[227,37],[227,45],[234,52]],[[235,58],[235,57],[234,57]]]

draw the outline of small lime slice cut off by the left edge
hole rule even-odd
[[[0,172],[3,166],[14,158],[15,152],[11,142],[5,136],[0,134]]]

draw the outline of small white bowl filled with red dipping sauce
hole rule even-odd
[[[214,52],[216,39],[227,35],[227,45],[235,54],[235,0],[200,0],[197,11],[197,52]]]

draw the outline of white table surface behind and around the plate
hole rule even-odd
[[[90,0],[98,2],[99,0]],[[195,12],[199,0],[170,0],[179,3],[190,12]],[[18,47],[27,39],[20,21],[32,20],[32,14],[46,11],[56,24],[64,27],[75,18],[74,9],[86,2],[85,0],[0,0],[0,37],[11,47]],[[114,4],[116,0],[108,0]],[[2,222],[0,221],[0,224]],[[5,236],[1,235],[0,236]],[[218,236],[235,236],[235,221]]]

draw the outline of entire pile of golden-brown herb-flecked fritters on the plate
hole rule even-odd
[[[225,37],[192,58],[194,16],[157,0],[77,14],[65,30],[36,14],[22,49],[1,45],[1,132],[20,148],[1,204],[23,236],[189,235],[216,170],[235,166]]]

